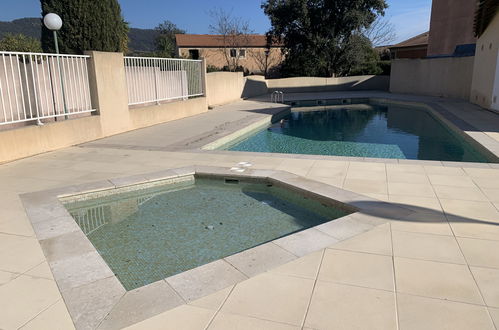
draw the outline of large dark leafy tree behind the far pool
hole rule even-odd
[[[367,29],[387,8],[385,0],[267,0],[269,35],[284,44],[288,76],[343,75],[350,71],[346,53],[356,32]]]

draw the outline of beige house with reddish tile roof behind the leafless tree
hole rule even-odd
[[[212,68],[242,67],[265,74],[282,62],[281,46],[269,42],[265,35],[176,34],[175,39],[179,57],[203,57]]]

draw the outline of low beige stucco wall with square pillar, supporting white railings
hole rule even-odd
[[[0,163],[206,112],[206,97],[129,109],[123,54],[89,52],[97,114],[0,131]]]

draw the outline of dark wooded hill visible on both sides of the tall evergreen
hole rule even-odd
[[[0,21],[0,39],[7,33],[22,33],[24,35],[40,39],[41,38],[40,18],[26,17],[15,19],[11,22]],[[154,50],[154,39],[158,35],[153,29],[130,28],[128,33],[128,47],[133,53],[150,52]]]

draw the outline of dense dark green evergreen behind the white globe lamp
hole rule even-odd
[[[62,53],[82,54],[86,50],[128,51],[128,23],[117,0],[40,0],[42,15],[56,13],[62,18],[58,31]],[[54,52],[52,31],[42,27],[42,48]]]

